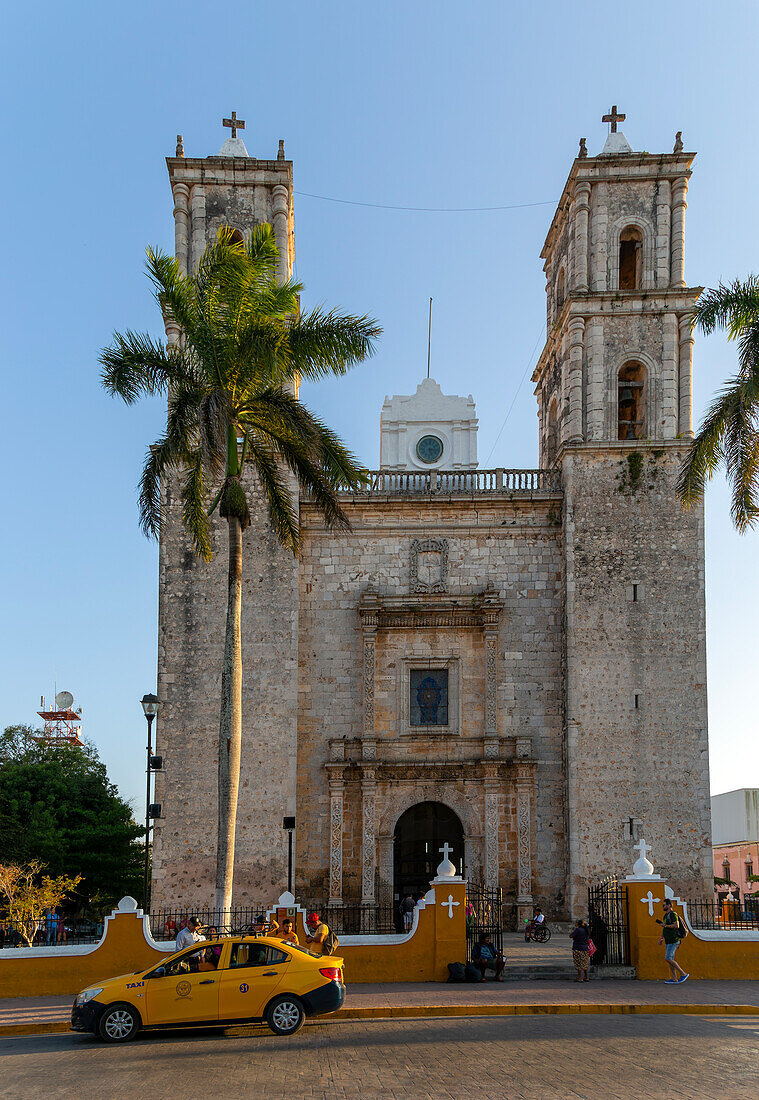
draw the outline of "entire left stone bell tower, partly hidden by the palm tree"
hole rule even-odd
[[[250,156],[238,130],[216,156],[187,157],[182,138],[166,161],[174,196],[175,254],[183,272],[197,266],[222,226],[240,239],[268,222],[279,251],[278,276],[295,256],[293,163],[284,143],[273,160]],[[166,326],[168,342],[179,339]],[[251,526],[243,535],[243,732],[234,905],[257,905],[287,886],[285,818],[295,814],[298,679],[298,574],[271,529],[268,509],[246,470]],[[162,486],[165,526],[160,548],[158,697],[153,845],[153,909],[211,904],[217,836],[217,760],[221,659],[227,610],[226,524],[213,519],[213,560],[200,561],[182,524],[179,480]],[[295,501],[297,505],[297,492]]]

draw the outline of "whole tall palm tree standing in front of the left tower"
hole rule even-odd
[[[250,463],[279,542],[300,547],[294,490],[306,490],[328,527],[348,528],[338,486],[365,474],[330,429],[295,396],[299,378],[344,374],[373,353],[381,329],[367,317],[315,309],[301,315],[300,284],[275,277],[270,226],[249,243],[220,230],[191,276],[147,250],[147,272],[178,344],[114,333],[100,356],[102,384],[132,405],[168,397],[166,430],[150,448],[140,483],[140,524],[157,538],[164,521],[162,480],[182,479],[183,522],[195,552],[211,559],[211,516],[229,535],[227,630],[219,721],[219,834],[215,908],[231,908],[242,744],[242,535],[250,524],[243,469]]]

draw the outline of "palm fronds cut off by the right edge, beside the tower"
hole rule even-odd
[[[708,290],[692,314],[705,334],[726,329],[738,342],[738,373],[710,406],[683,463],[678,492],[688,508],[724,464],[732,488],[730,515],[739,531],[759,520],[759,277]]]

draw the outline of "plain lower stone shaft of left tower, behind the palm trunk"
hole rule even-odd
[[[243,534],[243,744],[233,904],[257,905],[285,889],[283,817],[295,813],[297,563],[272,534],[246,472],[252,524]],[[164,486],[161,540],[155,825],[152,908],[211,905],[216,868],[221,663],[227,615],[227,525],[215,557],[195,557],[176,483]]]

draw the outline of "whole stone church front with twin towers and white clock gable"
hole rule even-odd
[[[711,883],[704,525],[675,479],[692,437],[700,288],[684,277],[694,154],[584,142],[542,252],[536,470],[481,470],[471,396],[386,398],[381,469],[348,532],[300,498],[294,561],[258,502],[244,534],[234,903],[389,905],[457,869],[515,921],[582,914],[645,835],[675,889]],[[185,271],[222,224],[294,258],[293,166],[230,139],[168,160]],[[167,337],[178,337],[167,328]],[[226,539],[197,560],[164,486],[153,906],[213,892]]]

